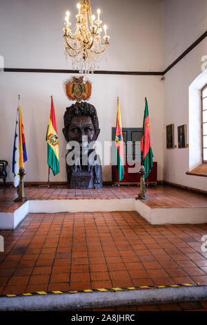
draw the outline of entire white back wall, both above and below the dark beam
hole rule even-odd
[[[162,71],[161,0],[92,0],[101,8],[101,19],[109,26],[109,62],[100,70]],[[1,0],[0,55],[7,68],[63,68],[66,63],[62,28],[66,10],[77,13],[77,1]],[[102,14],[103,11],[103,14]],[[72,104],[65,95],[63,82],[72,75],[57,73],[0,73],[1,158],[8,160],[8,181],[12,176],[12,147],[21,95],[28,162],[26,181],[47,180],[46,128],[50,114],[50,95],[54,97],[59,135],[60,173],[51,180],[66,180],[66,141],[62,135],[63,113]],[[141,127],[144,97],[148,98],[152,150],[158,162],[158,179],[163,179],[163,84],[160,76],[90,75],[92,96],[97,108],[101,133],[99,140],[111,140],[115,127],[117,95],[121,105],[122,127]],[[103,180],[111,180],[110,166],[103,166]]]

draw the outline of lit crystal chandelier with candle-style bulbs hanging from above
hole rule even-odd
[[[97,10],[97,20],[92,15],[90,0],[81,0],[77,4],[77,23],[70,28],[70,12],[66,12],[65,28],[63,28],[63,39],[66,45],[66,57],[72,57],[72,69],[79,70],[79,73],[93,73],[98,68],[98,62],[103,53],[109,47],[110,37],[106,34],[107,26],[103,29],[105,35],[101,41],[100,9]]]

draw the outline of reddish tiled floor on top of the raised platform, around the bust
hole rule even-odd
[[[104,186],[102,189],[68,189],[66,186],[51,187],[26,187],[25,196],[28,200],[52,200],[75,198],[136,198],[139,193],[137,186],[112,187]],[[142,201],[151,208],[156,207],[207,207],[207,196],[186,189],[168,185],[148,187],[149,199]],[[23,203],[15,203],[17,189],[0,188],[0,212],[14,212]]]

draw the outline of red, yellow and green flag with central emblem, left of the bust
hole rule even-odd
[[[55,176],[59,173],[59,144],[52,96],[46,141],[48,142],[48,166],[52,169]]]

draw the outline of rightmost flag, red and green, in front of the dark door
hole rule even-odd
[[[148,101],[145,97],[145,110],[144,110],[144,121],[142,129],[142,138],[141,138],[141,151],[143,153],[143,162],[144,168],[146,171],[145,178],[148,177],[153,166],[152,161],[152,147],[150,144],[150,122],[149,122],[149,113],[148,113]]]

